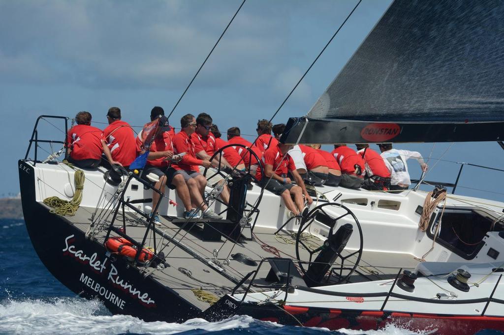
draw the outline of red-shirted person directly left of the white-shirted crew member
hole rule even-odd
[[[390,171],[383,157],[369,148],[369,144],[355,144],[357,152],[364,158],[366,176],[362,188],[370,191],[387,191],[390,187]]]

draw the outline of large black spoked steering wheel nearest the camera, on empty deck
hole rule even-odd
[[[342,210],[343,214],[341,214],[337,218],[332,218],[330,215],[328,215],[326,213],[326,211],[324,211],[324,207],[327,207],[327,206],[338,207],[339,209]],[[307,262],[301,260],[300,253],[299,253],[300,246],[302,246],[304,249],[306,249],[306,251],[309,254],[308,264],[311,264],[313,262],[313,256],[318,254],[323,248],[326,248],[329,246],[329,239],[328,239],[328,240],[324,241],[324,244],[322,246],[320,246],[314,250],[311,250],[308,246],[306,246],[306,244],[301,239],[302,233],[311,225],[311,223],[316,219],[318,214],[324,214],[326,217],[331,218],[330,224],[332,226],[331,226],[331,229],[329,230],[328,236],[331,236],[333,234],[333,230],[335,230],[338,225],[338,220],[341,220],[346,216],[350,216],[350,218],[355,222],[355,224],[357,225],[357,228],[359,230],[359,249],[353,253],[350,253],[347,256],[343,256],[341,253],[336,253],[337,259],[341,260],[341,264],[330,268],[328,271],[330,274],[334,273],[338,277],[337,281],[331,282],[331,284],[339,284],[339,283],[346,281],[354,273],[355,269],[357,269],[357,266],[359,265],[360,258],[362,257],[362,247],[363,247],[362,228],[360,227],[359,220],[357,219],[355,214],[352,213],[352,211],[350,209],[348,209],[346,206],[344,206],[342,204],[338,204],[335,202],[328,202],[328,203],[324,203],[319,206],[316,206],[311,211],[309,211],[306,214],[306,216],[302,217],[301,223],[299,225],[299,229],[297,230],[297,234],[296,234],[296,258],[298,260],[299,268],[301,269],[303,275],[306,276],[310,281],[317,283],[317,284],[320,284],[321,286],[327,285],[329,278],[327,279],[326,283],[323,283],[322,280],[317,281],[317,280],[314,280],[313,278],[308,277],[308,275],[307,275],[308,270],[305,269],[304,265],[303,265],[303,264],[306,264]],[[349,268],[345,268],[345,266],[344,266],[345,261],[353,256],[357,256],[357,261],[355,262],[353,267],[350,268],[350,272],[347,275],[343,276],[343,270],[349,270]],[[330,276],[331,275],[329,275],[329,277]]]

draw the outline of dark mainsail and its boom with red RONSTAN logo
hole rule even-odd
[[[502,64],[503,1],[396,0],[282,141],[501,140]]]

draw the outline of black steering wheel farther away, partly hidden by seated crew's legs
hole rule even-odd
[[[246,150],[244,155],[248,155],[248,166],[245,166],[245,171],[236,170],[236,166],[233,166],[231,172],[229,174],[227,174],[226,172],[223,171],[223,168],[221,167],[223,165],[222,164],[222,157],[224,156],[224,149],[227,149],[230,147],[237,147],[237,146],[242,147],[243,149]],[[234,148],[233,148],[233,150],[234,150]],[[242,158],[240,159],[238,164],[240,164],[243,161],[244,155],[241,155]],[[205,171],[203,172],[203,176],[208,181],[208,180],[214,178],[215,176],[219,175],[222,177],[224,182],[222,182],[222,181],[217,182],[217,184],[212,186],[212,190],[210,192],[208,192],[208,194],[206,195],[205,201],[207,201],[209,206],[215,200],[217,200],[217,198],[221,194],[225,185],[228,184],[228,182],[231,179],[230,175],[234,174],[235,176],[240,176],[241,178],[247,178],[248,180],[253,180],[254,177],[250,174],[250,165],[251,165],[250,162],[252,161],[251,158],[254,157],[254,158],[256,158],[256,160],[258,162],[261,161],[259,156],[253,150],[251,150],[249,147],[247,147],[246,145],[243,145],[243,144],[228,144],[228,145],[221,147],[219,150],[214,152],[214,154],[210,158],[210,161],[213,161],[216,157],[218,157],[218,161],[219,161],[219,165],[217,166],[216,171],[213,174],[211,174],[210,177],[207,177],[208,168],[205,167]],[[262,174],[262,176],[264,176],[264,167],[261,164],[259,164],[258,169],[261,169],[261,174]],[[261,193],[259,194],[259,197],[256,200],[256,202],[254,203],[254,205],[248,204],[251,207],[251,209],[247,210],[248,215],[243,216],[243,218],[245,220],[248,220],[248,218],[251,217],[257,211],[257,208],[259,207],[259,204],[261,203],[261,200],[263,199],[263,194],[264,194],[264,188],[261,188]]]

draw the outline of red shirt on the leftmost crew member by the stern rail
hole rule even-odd
[[[71,145],[70,157],[81,159],[100,159],[101,130],[85,124],[73,126],[67,133],[67,142]]]

